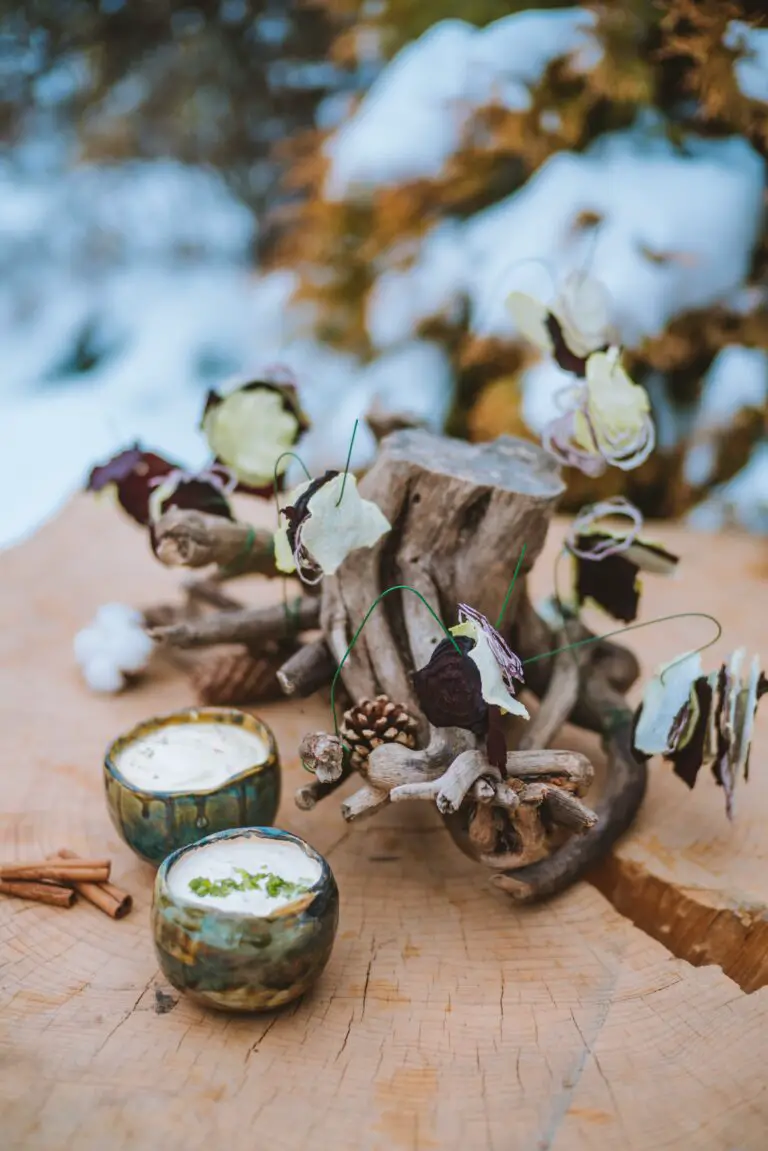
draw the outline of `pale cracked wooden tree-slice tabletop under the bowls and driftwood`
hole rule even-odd
[[[558,531],[533,576],[540,594]],[[740,643],[768,655],[765,542],[657,534],[684,559],[679,579],[646,580],[644,617],[712,611],[725,628],[715,655]],[[326,725],[327,698],[259,708],[283,753],[279,823],[339,881],[336,946],[314,991],[282,1013],[167,1009],[153,871],[109,824],[101,755],[116,732],[189,704],[189,688],[169,670],[96,698],[71,640],[101,603],[172,599],[178,582],[135,528],[84,500],[0,556],[0,857],[109,854],[136,900],[119,922],[83,902],[0,900],[3,1151],[765,1151],[765,707],[732,825],[709,779],[689,793],[654,762],[601,890],[581,883],[533,908],[492,890],[429,805],[353,826],[337,796],[297,810],[296,748]],[[279,594],[256,590],[264,603]],[[628,639],[647,674],[708,626]],[[560,744],[594,753],[580,733]]]

